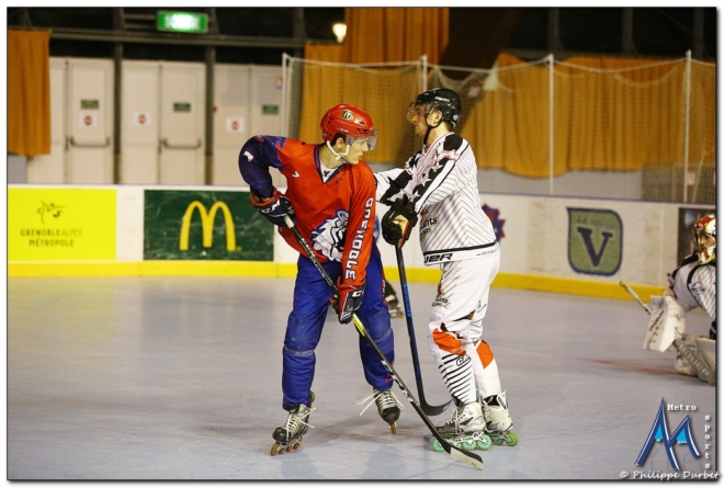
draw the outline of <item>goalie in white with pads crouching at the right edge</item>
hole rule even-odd
[[[704,215],[691,227],[693,252],[669,275],[664,296],[651,297],[651,319],[644,349],[675,353],[678,373],[698,376],[697,368],[672,345],[676,338],[716,371],[716,216]],[[709,337],[686,333],[686,314],[701,307],[712,319]]]

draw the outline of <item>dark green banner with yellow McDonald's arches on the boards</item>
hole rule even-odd
[[[249,192],[145,191],[147,260],[273,261],[273,227]]]

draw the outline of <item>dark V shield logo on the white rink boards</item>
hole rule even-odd
[[[568,262],[578,273],[610,276],[623,254],[623,224],[613,211],[568,208]]]

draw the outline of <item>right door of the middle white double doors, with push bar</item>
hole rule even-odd
[[[161,184],[204,183],[203,64],[161,63]]]

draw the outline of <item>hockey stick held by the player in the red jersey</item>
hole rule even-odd
[[[307,254],[307,258],[309,258],[309,260],[312,261],[314,266],[317,269],[317,271],[319,271],[319,274],[321,275],[321,277],[324,277],[325,281],[327,282],[327,284],[329,285],[329,287],[332,288],[335,291],[335,293],[337,293],[337,285],[331,280],[331,277],[329,277],[329,275],[327,274],[325,269],[321,268],[321,264],[319,263],[317,258],[314,256],[314,252],[312,251],[312,248],[309,247],[307,241],[304,239],[304,237],[302,237],[302,235],[299,234],[297,228],[294,226],[294,222],[292,222],[292,219],[290,218],[289,215],[284,216],[284,222],[286,223],[286,226],[290,229],[292,229],[292,232],[294,232],[294,237],[296,238],[297,242],[299,242],[299,246],[302,246],[302,248],[304,249],[304,252]],[[438,440],[438,442],[440,442],[440,445],[442,446],[442,449],[445,450],[445,452],[448,454],[450,454],[451,456],[453,456],[454,458],[456,458],[459,461],[462,461],[464,463],[467,463],[468,465],[473,466],[474,468],[483,469],[485,467],[485,465],[483,464],[483,459],[480,458],[480,456],[478,456],[475,453],[466,452],[466,451],[463,451],[461,449],[455,447],[450,442],[445,441],[442,438],[442,435],[440,435],[440,433],[438,432],[438,429],[435,429],[434,424],[428,418],[428,416],[425,415],[425,411],[422,411],[422,408],[420,407],[420,404],[418,404],[417,400],[415,399],[415,397],[412,396],[412,391],[410,391],[409,388],[407,388],[407,386],[405,386],[405,383],[399,377],[399,375],[397,374],[395,368],[392,366],[392,364],[389,364],[389,361],[387,361],[387,358],[385,358],[385,354],[380,350],[377,344],[370,337],[370,333],[364,328],[364,325],[359,319],[357,314],[352,314],[352,322],[354,324],[354,327],[357,328],[357,331],[360,333],[360,336],[362,336],[362,338],[364,338],[364,340],[367,341],[367,343],[370,345],[372,345],[372,349],[375,350],[375,352],[380,356],[380,360],[382,361],[382,364],[385,366],[385,368],[387,370],[389,375],[393,377],[393,379],[395,379],[395,383],[397,383],[397,386],[399,386],[399,389],[403,390],[403,394],[407,397],[409,402],[412,405],[412,408],[415,408],[415,411],[417,411],[417,413],[420,416],[420,418],[422,419],[425,424],[428,427],[428,429],[430,429],[430,432],[432,432],[432,435],[434,435],[434,438]]]

